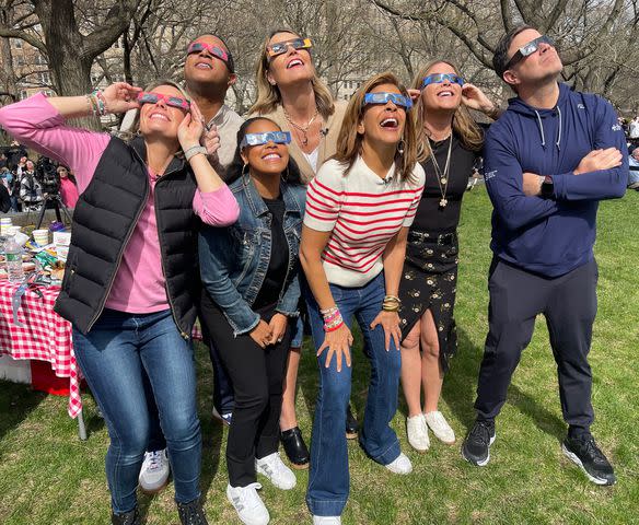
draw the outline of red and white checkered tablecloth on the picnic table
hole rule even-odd
[[[19,284],[0,281],[0,353],[13,359],[37,359],[51,363],[58,377],[69,377],[69,416],[82,410],[80,373],[73,354],[71,324],[54,312],[60,291],[57,287],[38,287],[44,298],[33,290],[22,296],[18,313],[24,328],[13,324],[11,299]]]

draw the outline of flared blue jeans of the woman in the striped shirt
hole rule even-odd
[[[371,363],[371,381],[360,444],[372,459],[387,465],[400,452],[397,435],[388,423],[397,410],[402,360],[392,341],[391,350],[386,351],[382,326],[376,326],[374,330],[370,328],[370,324],[382,310],[384,277],[380,275],[360,288],[330,284],[330,292],[349,328],[352,326],[352,317],[357,318],[364,339],[364,354]],[[307,287],[304,294],[317,350],[324,341],[324,319]],[[355,365],[355,355],[351,358]],[[352,370],[342,363],[341,372],[337,372],[335,358],[328,369],[325,362],[326,350],[317,358],[320,388],[313,419],[306,504],[313,515],[338,516],[346,505],[350,483],[344,421],[350,398]]]

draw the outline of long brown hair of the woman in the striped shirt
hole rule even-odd
[[[404,84],[395,74],[386,71],[384,73],[375,74],[371,79],[362,83],[359,90],[350,98],[341,129],[337,137],[337,152],[334,159],[347,166],[345,175],[350,171],[358,155],[361,153],[363,136],[358,133],[358,125],[362,121],[364,113],[364,95],[370,93],[376,86],[382,84],[396,85],[404,96],[408,96],[408,92]],[[413,109],[410,109],[413,110]],[[413,175],[413,170],[417,163],[417,137],[415,132],[415,118],[407,112],[406,122],[404,125],[404,152],[395,154],[395,175],[398,175],[402,180],[408,179]]]

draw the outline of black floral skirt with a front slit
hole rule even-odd
[[[399,282],[399,323],[406,337],[427,310],[439,336],[442,370],[446,372],[457,350],[453,308],[457,290],[458,244],[456,233],[410,231]]]

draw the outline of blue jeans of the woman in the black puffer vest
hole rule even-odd
[[[106,477],[113,511],[136,506],[138,475],[149,441],[144,374],[166,436],[175,500],[188,503],[199,498],[201,435],[195,359],[193,345],[181,337],[171,311],[105,310],[86,336],[73,329],[73,345],[111,438]]]

